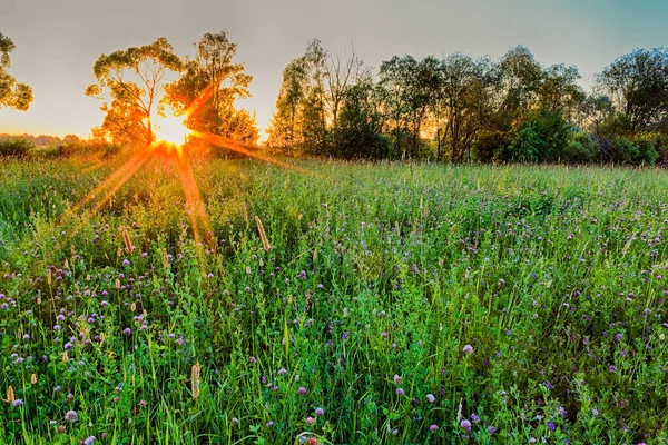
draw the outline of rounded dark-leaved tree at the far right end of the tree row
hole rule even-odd
[[[654,131],[668,120],[668,50],[637,49],[615,60],[598,80],[631,135]]]

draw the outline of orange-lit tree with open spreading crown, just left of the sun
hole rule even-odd
[[[105,120],[94,135],[119,144],[151,144],[154,117],[165,100],[166,77],[181,69],[183,61],[164,37],[150,44],[101,55],[94,66],[98,83],[86,89],[87,96],[107,98],[100,107]]]

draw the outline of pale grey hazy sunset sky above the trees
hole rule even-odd
[[[95,61],[158,37],[185,56],[226,29],[253,76],[239,105],[264,130],[283,68],[314,38],[376,69],[395,55],[498,59],[524,44],[544,66],[577,66],[587,88],[617,57],[667,47],[666,18],[668,0],[0,0],[0,32],[17,46],[9,71],[35,93],[26,112],[0,110],[0,134],[88,136],[102,121],[84,93]]]

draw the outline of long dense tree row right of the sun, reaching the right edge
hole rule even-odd
[[[395,56],[377,71],[315,39],[283,70],[267,144],[343,158],[613,162],[668,158],[668,51],[638,49],[597,75],[540,65],[518,46],[499,60]]]

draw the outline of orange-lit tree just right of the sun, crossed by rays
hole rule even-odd
[[[196,57],[186,58],[181,77],[167,87],[167,101],[179,112],[188,111],[186,125],[190,129],[257,141],[255,119],[235,108],[236,100],[250,96],[253,80],[243,63],[233,61],[236,43],[224,30],[204,34],[195,47]]]

